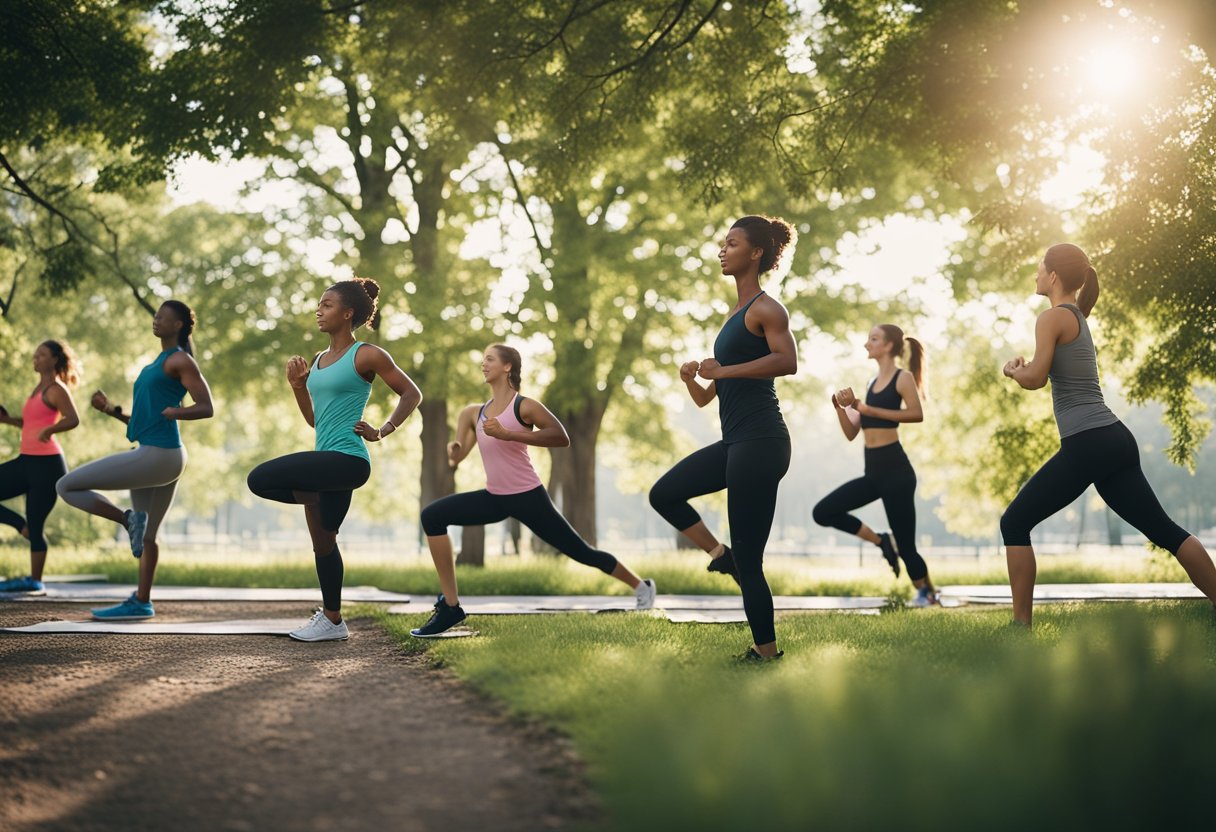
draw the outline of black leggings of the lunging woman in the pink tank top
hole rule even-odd
[[[544,485],[520,494],[465,491],[449,494],[422,510],[422,529],[428,538],[447,534],[449,525],[485,525],[513,517],[563,555],[610,575],[617,558],[592,549],[557,511]]]

